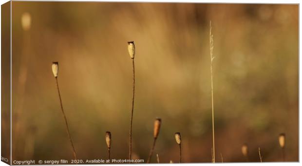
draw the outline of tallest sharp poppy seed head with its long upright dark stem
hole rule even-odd
[[[134,55],[135,55],[135,45],[134,41],[128,41],[128,52],[132,59],[132,110],[130,118],[130,131],[129,131],[129,159],[131,160],[132,152],[132,119],[133,119],[133,109],[134,109],[134,91],[135,91],[135,69],[134,69]]]

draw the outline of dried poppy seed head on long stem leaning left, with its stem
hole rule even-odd
[[[60,90],[59,90],[59,84],[58,84],[58,81],[57,81],[58,70],[59,70],[59,64],[58,64],[58,62],[53,62],[53,64],[52,64],[52,70],[53,70],[53,74],[54,74],[54,76],[55,76],[55,78],[56,78],[57,92],[58,92],[58,94],[59,94],[59,100],[60,100],[60,105],[61,105],[61,111],[62,111],[64,120],[65,120],[65,126],[66,126],[66,130],[67,130],[67,135],[68,135],[68,137],[69,137],[69,141],[70,141],[70,144],[71,144],[73,153],[74,153],[74,158],[75,158],[75,160],[77,160],[77,157],[76,157],[76,149],[75,149],[74,143],[73,143],[73,141],[72,141],[72,139],[71,139],[71,135],[70,135],[69,127],[68,127],[67,118],[66,118],[65,112],[64,112],[64,110],[63,110],[63,104],[62,104],[62,99],[61,99],[61,93],[60,93]]]

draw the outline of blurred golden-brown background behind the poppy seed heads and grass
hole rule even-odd
[[[12,2],[13,160],[73,159],[51,64],[79,159],[127,159],[136,46],[134,159],[211,162],[209,21],[214,36],[216,162],[298,161],[298,5]],[[27,14],[26,14],[27,13]],[[22,27],[22,15],[30,27]],[[27,18],[28,19],[28,18]]]

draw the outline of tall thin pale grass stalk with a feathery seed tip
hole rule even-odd
[[[215,135],[214,135],[214,97],[213,97],[213,50],[214,50],[214,39],[212,35],[212,24],[210,21],[210,57],[211,57],[211,93],[212,93],[212,133],[213,133],[213,163],[215,163]]]

